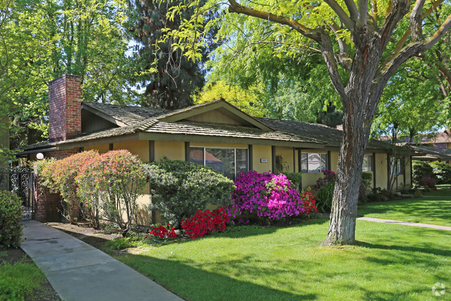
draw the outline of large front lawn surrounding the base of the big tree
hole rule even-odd
[[[358,245],[318,247],[328,224],[240,227],[118,259],[190,301],[451,300],[451,231],[358,220]]]

